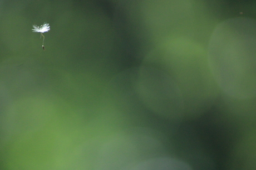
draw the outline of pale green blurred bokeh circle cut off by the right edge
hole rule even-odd
[[[211,34],[209,64],[221,89],[229,96],[256,95],[256,21],[232,18]]]

